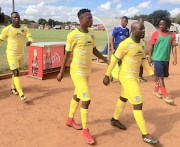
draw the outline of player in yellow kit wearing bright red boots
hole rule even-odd
[[[73,119],[79,101],[81,100],[83,137],[88,144],[93,144],[94,139],[91,137],[87,126],[88,107],[90,104],[88,82],[91,73],[92,55],[94,54],[98,58],[104,60],[107,64],[109,64],[109,61],[96,49],[95,32],[88,28],[92,26],[93,21],[91,11],[88,9],[81,9],[77,15],[80,21],[80,27],[70,32],[67,36],[65,49],[66,53],[61,70],[57,76],[57,80],[59,82],[62,80],[65,65],[68,61],[70,53],[73,52],[73,59],[70,65],[70,74],[75,85],[75,90],[74,96],[71,100],[69,116],[66,124],[77,130],[81,129],[81,127],[77,125]]]

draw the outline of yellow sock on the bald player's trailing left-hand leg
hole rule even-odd
[[[119,117],[121,116],[123,110],[124,110],[124,106],[125,106],[125,102],[121,101],[120,99],[118,99],[117,103],[116,103],[116,109],[113,115],[113,118],[118,120]]]

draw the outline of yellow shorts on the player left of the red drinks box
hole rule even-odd
[[[24,61],[24,55],[7,55],[7,60],[11,70],[21,68]]]

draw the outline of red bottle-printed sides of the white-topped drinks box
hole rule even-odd
[[[29,46],[29,76],[43,79],[43,73],[61,67],[64,58],[64,46]]]

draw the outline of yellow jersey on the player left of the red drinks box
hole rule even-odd
[[[12,25],[5,27],[0,35],[0,44],[7,38],[7,54],[21,55],[24,53],[24,40],[27,37],[28,41],[33,42],[29,29],[26,26],[20,25],[15,28]]]

